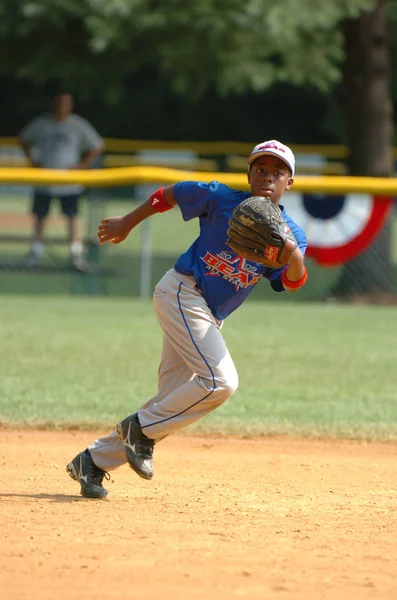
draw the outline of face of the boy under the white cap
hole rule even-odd
[[[294,182],[289,167],[277,156],[260,156],[248,171],[248,183],[253,196],[267,196],[278,204],[285,190]]]

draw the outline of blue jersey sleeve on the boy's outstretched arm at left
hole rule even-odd
[[[217,182],[181,181],[174,185],[174,198],[184,221],[202,217],[209,211],[209,202]]]

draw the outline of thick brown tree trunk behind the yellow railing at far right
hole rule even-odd
[[[393,174],[393,108],[390,56],[383,0],[372,12],[347,20],[344,91],[350,175],[389,177]],[[393,289],[391,221],[373,245],[345,265],[334,293],[390,292]]]

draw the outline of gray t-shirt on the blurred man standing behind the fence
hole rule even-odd
[[[71,114],[57,121],[51,114],[33,119],[19,134],[30,146],[30,154],[45,169],[70,169],[89,150],[103,146],[103,139],[83,117]],[[79,194],[82,185],[58,185],[37,188],[53,196]]]

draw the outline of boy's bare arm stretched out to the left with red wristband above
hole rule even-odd
[[[158,190],[158,192],[159,191],[160,190]],[[158,198],[156,197],[156,194]],[[160,203],[162,210],[159,211]],[[175,204],[174,186],[169,185],[165,188],[161,188],[159,194],[155,192],[148,200],[146,200],[146,202],[140,204],[133,211],[124,215],[124,217],[109,217],[108,219],[103,219],[98,227],[97,236],[99,243],[101,245],[106,242],[119,244],[125,240],[128,234],[139,225],[139,223],[142,223],[142,221],[157,212],[165,212],[166,210],[173,208]]]

